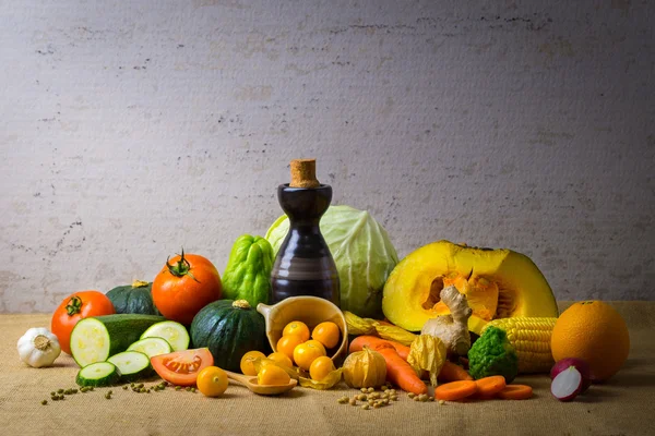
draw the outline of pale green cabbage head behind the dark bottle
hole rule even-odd
[[[338,270],[342,311],[381,318],[382,289],[398,263],[386,231],[368,211],[350,206],[330,206],[320,226]],[[289,220],[283,215],[266,232],[275,254],[288,231]]]

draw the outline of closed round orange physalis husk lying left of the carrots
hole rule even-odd
[[[343,365],[344,380],[352,388],[382,386],[386,380],[386,361],[377,351],[365,347],[350,353]]]

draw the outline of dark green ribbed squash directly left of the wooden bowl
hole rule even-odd
[[[266,351],[264,317],[246,300],[218,300],[204,306],[191,323],[194,348],[206,347],[214,365],[240,372],[241,358],[248,351]]]

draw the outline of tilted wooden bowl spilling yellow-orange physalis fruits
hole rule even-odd
[[[331,320],[341,330],[341,343],[336,351],[330,355],[332,360],[345,356],[348,350],[348,327],[343,312],[331,301],[319,296],[290,296],[274,305],[260,303],[257,311],[264,315],[266,320],[266,337],[273,351],[277,351],[277,341],[282,338],[282,330],[293,320],[300,320],[313,330],[319,324]],[[330,350],[327,350],[330,352]]]

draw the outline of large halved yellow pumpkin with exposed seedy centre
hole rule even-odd
[[[384,284],[382,311],[393,324],[419,331],[426,320],[448,314],[439,293],[453,284],[468,300],[468,329],[480,334],[491,319],[558,316],[552,290],[529,257],[438,241],[401,261]]]

